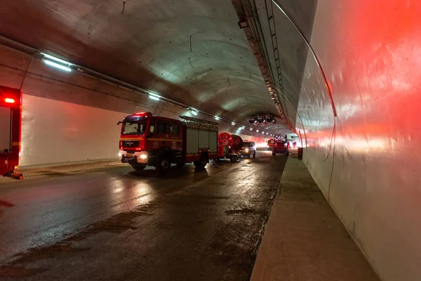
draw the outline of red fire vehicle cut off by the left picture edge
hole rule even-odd
[[[0,86],[0,175],[22,179],[20,158],[22,91]]]

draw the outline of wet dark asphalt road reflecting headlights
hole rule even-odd
[[[249,280],[286,159],[0,185],[0,279]]]

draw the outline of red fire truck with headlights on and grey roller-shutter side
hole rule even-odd
[[[171,164],[183,166],[193,162],[204,167],[217,157],[218,123],[180,116],[183,121],[138,112],[128,115],[121,125],[121,162],[142,171],[155,166],[167,171]]]

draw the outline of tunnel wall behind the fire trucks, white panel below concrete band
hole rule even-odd
[[[23,82],[21,166],[116,159],[116,123],[124,116],[139,111],[174,119],[191,115],[185,108],[93,77],[56,70],[11,48],[0,46],[0,58],[0,84],[20,89]],[[228,122],[221,121],[219,128],[265,143],[265,138],[246,136]]]

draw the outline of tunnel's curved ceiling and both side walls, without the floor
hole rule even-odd
[[[378,277],[420,280],[420,15],[416,0],[3,0],[20,166],[115,159],[116,123],[140,111],[259,146],[296,134]]]

